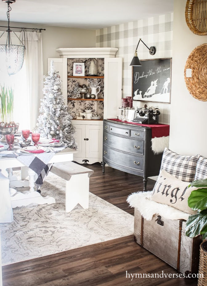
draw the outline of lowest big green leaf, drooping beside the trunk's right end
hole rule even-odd
[[[205,233],[207,229],[207,210],[189,216],[186,222],[185,235],[191,238]],[[204,231],[203,231],[204,230]]]

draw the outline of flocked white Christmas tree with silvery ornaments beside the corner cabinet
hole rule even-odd
[[[49,73],[44,78],[44,98],[41,99],[36,132],[41,133],[41,137],[58,139],[61,144],[76,149],[75,127],[72,125],[71,115],[67,112],[67,105],[64,105],[61,92],[62,81],[55,71],[53,61],[51,61]]]

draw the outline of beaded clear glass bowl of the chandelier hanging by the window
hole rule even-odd
[[[7,72],[9,75],[18,73],[24,62],[25,46],[21,45],[0,45],[0,53],[6,60]]]

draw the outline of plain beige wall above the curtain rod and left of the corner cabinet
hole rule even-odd
[[[0,26],[7,26],[7,22],[0,22]],[[55,51],[56,48],[95,47],[95,30],[14,22],[11,22],[10,26],[46,29],[42,31],[44,73],[47,73],[47,58],[59,58],[59,54]],[[0,28],[0,30],[3,29]],[[14,29],[14,32],[19,31]]]

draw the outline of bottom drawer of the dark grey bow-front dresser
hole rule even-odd
[[[144,167],[144,157],[131,155],[126,153],[121,153],[119,151],[110,149],[108,146],[104,144],[103,146],[103,160],[112,161],[117,165],[122,165],[124,167],[137,169],[139,171],[143,171]]]

